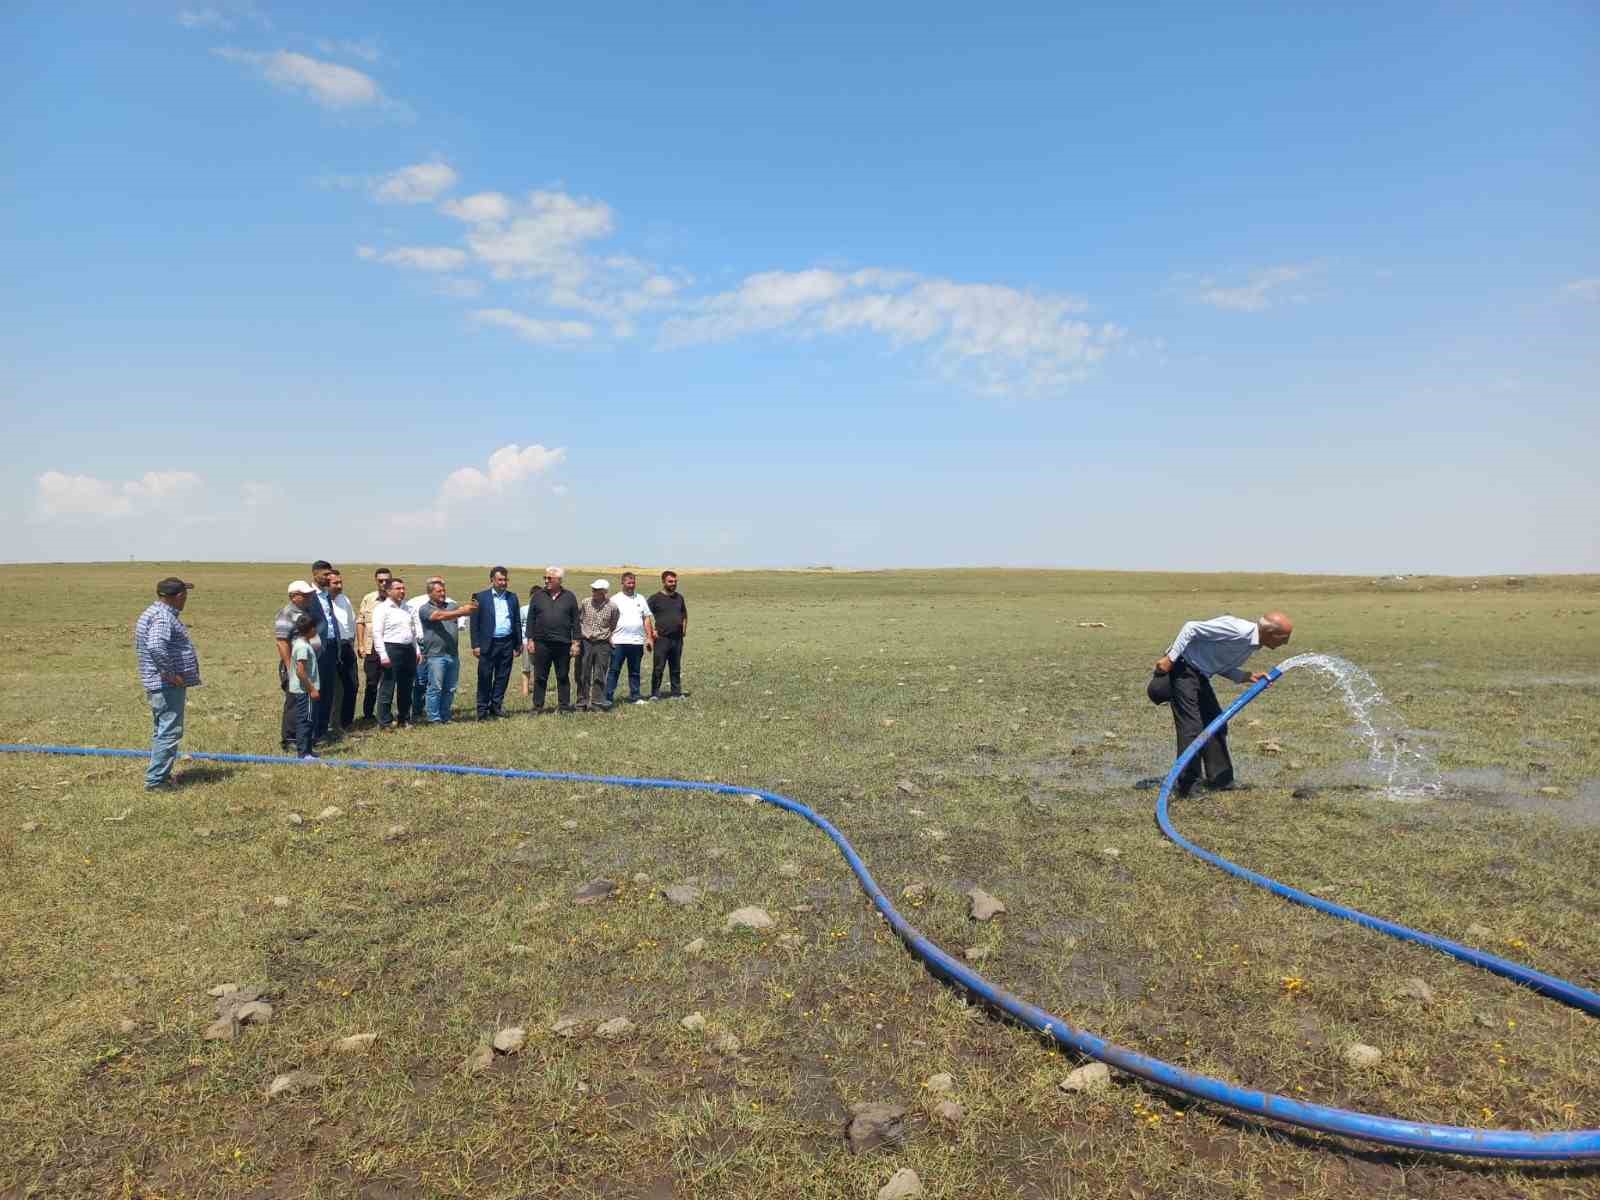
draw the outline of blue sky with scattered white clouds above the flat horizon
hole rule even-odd
[[[1600,570],[1589,3],[21,3],[0,104],[0,560]]]

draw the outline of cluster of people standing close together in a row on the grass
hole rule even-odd
[[[510,589],[504,566],[490,570],[488,587],[466,603],[453,600],[442,576],[430,576],[416,597],[387,566],[373,573],[373,590],[352,606],[344,579],[328,562],[312,563],[310,582],[288,586],[274,637],[283,686],[280,725],[285,749],[315,757],[320,742],[355,726],[357,666],[365,674],[362,722],[389,733],[406,725],[445,725],[454,710],[461,677],[461,635],[477,661],[477,718],[506,717],[512,669],[522,659],[522,693],[531,693],[533,715],[549,712],[555,675],[555,712],[610,712],[627,669],[627,699],[645,704],[683,699],[683,640],[688,603],[677,571],[661,573],[661,590],[638,594],[634,571],[611,595],[595,579],[579,602],[566,589],[560,566],[544,571],[544,584],[526,603]],[[642,693],[645,650],[653,654],[650,694]],[[576,702],[573,667],[576,664]],[[662,694],[662,678],[670,691]],[[334,712],[334,690],[341,693]]]

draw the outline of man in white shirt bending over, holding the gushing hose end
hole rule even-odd
[[[1211,691],[1211,675],[1226,675],[1235,683],[1259,683],[1259,670],[1243,670],[1245,659],[1261,646],[1277,648],[1290,640],[1294,622],[1283,613],[1267,613],[1259,621],[1237,616],[1214,616],[1189,621],[1166,653],[1155,661],[1155,674],[1146,688],[1155,704],[1171,702],[1173,726],[1178,730],[1178,754],[1189,749],[1205,726],[1216,720],[1222,706]],[[1227,726],[1216,731],[1200,754],[1178,776],[1178,795],[1187,797],[1205,768],[1208,787],[1234,786],[1234,760],[1227,754]]]

